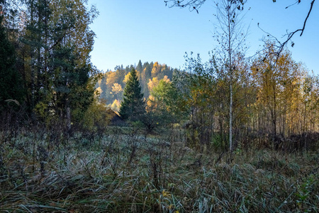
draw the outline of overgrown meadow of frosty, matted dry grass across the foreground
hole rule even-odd
[[[2,141],[1,212],[319,212],[318,153],[220,158],[121,132],[47,143]]]

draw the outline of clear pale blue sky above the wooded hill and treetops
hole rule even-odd
[[[114,70],[117,65],[137,65],[138,61],[165,63],[183,68],[185,53],[200,54],[208,60],[208,52],[216,48],[216,6],[213,0],[196,11],[169,8],[163,0],[89,0],[99,16],[91,24],[96,33],[91,62],[99,70]],[[289,6],[294,0],[248,0],[242,24],[248,29],[246,55],[251,56],[264,44],[267,33],[284,40],[286,32],[302,28],[310,0]],[[248,10],[249,9],[249,10]],[[313,4],[306,29],[293,37],[292,58],[303,62],[309,71],[319,75],[319,2]],[[257,23],[259,23],[258,28]],[[267,33],[264,33],[263,31]]]

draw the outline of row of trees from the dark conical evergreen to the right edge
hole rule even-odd
[[[233,146],[311,148],[315,144],[310,141],[318,139],[319,77],[295,62],[289,50],[279,58],[265,58],[272,45],[254,60],[239,53],[233,58]],[[142,97],[133,69],[120,115],[150,131],[179,124],[186,130],[188,146],[227,150],[228,68],[217,54],[208,62],[199,55],[186,56],[186,61],[185,70],[174,72],[172,81],[162,79],[150,87],[148,99]]]

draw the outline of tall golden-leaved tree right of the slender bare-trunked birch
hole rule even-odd
[[[272,43],[267,44],[267,54],[272,56]],[[300,66],[284,51],[279,58],[260,55],[253,62],[252,77],[257,87],[257,117],[259,129],[272,132],[275,136],[288,135],[296,131],[295,124],[302,102]],[[262,119],[264,117],[264,119]],[[272,126],[269,128],[269,126]]]

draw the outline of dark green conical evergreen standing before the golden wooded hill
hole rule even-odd
[[[135,69],[130,71],[130,77],[124,89],[124,98],[120,107],[120,116],[125,120],[139,121],[145,113],[145,102],[141,93]]]

